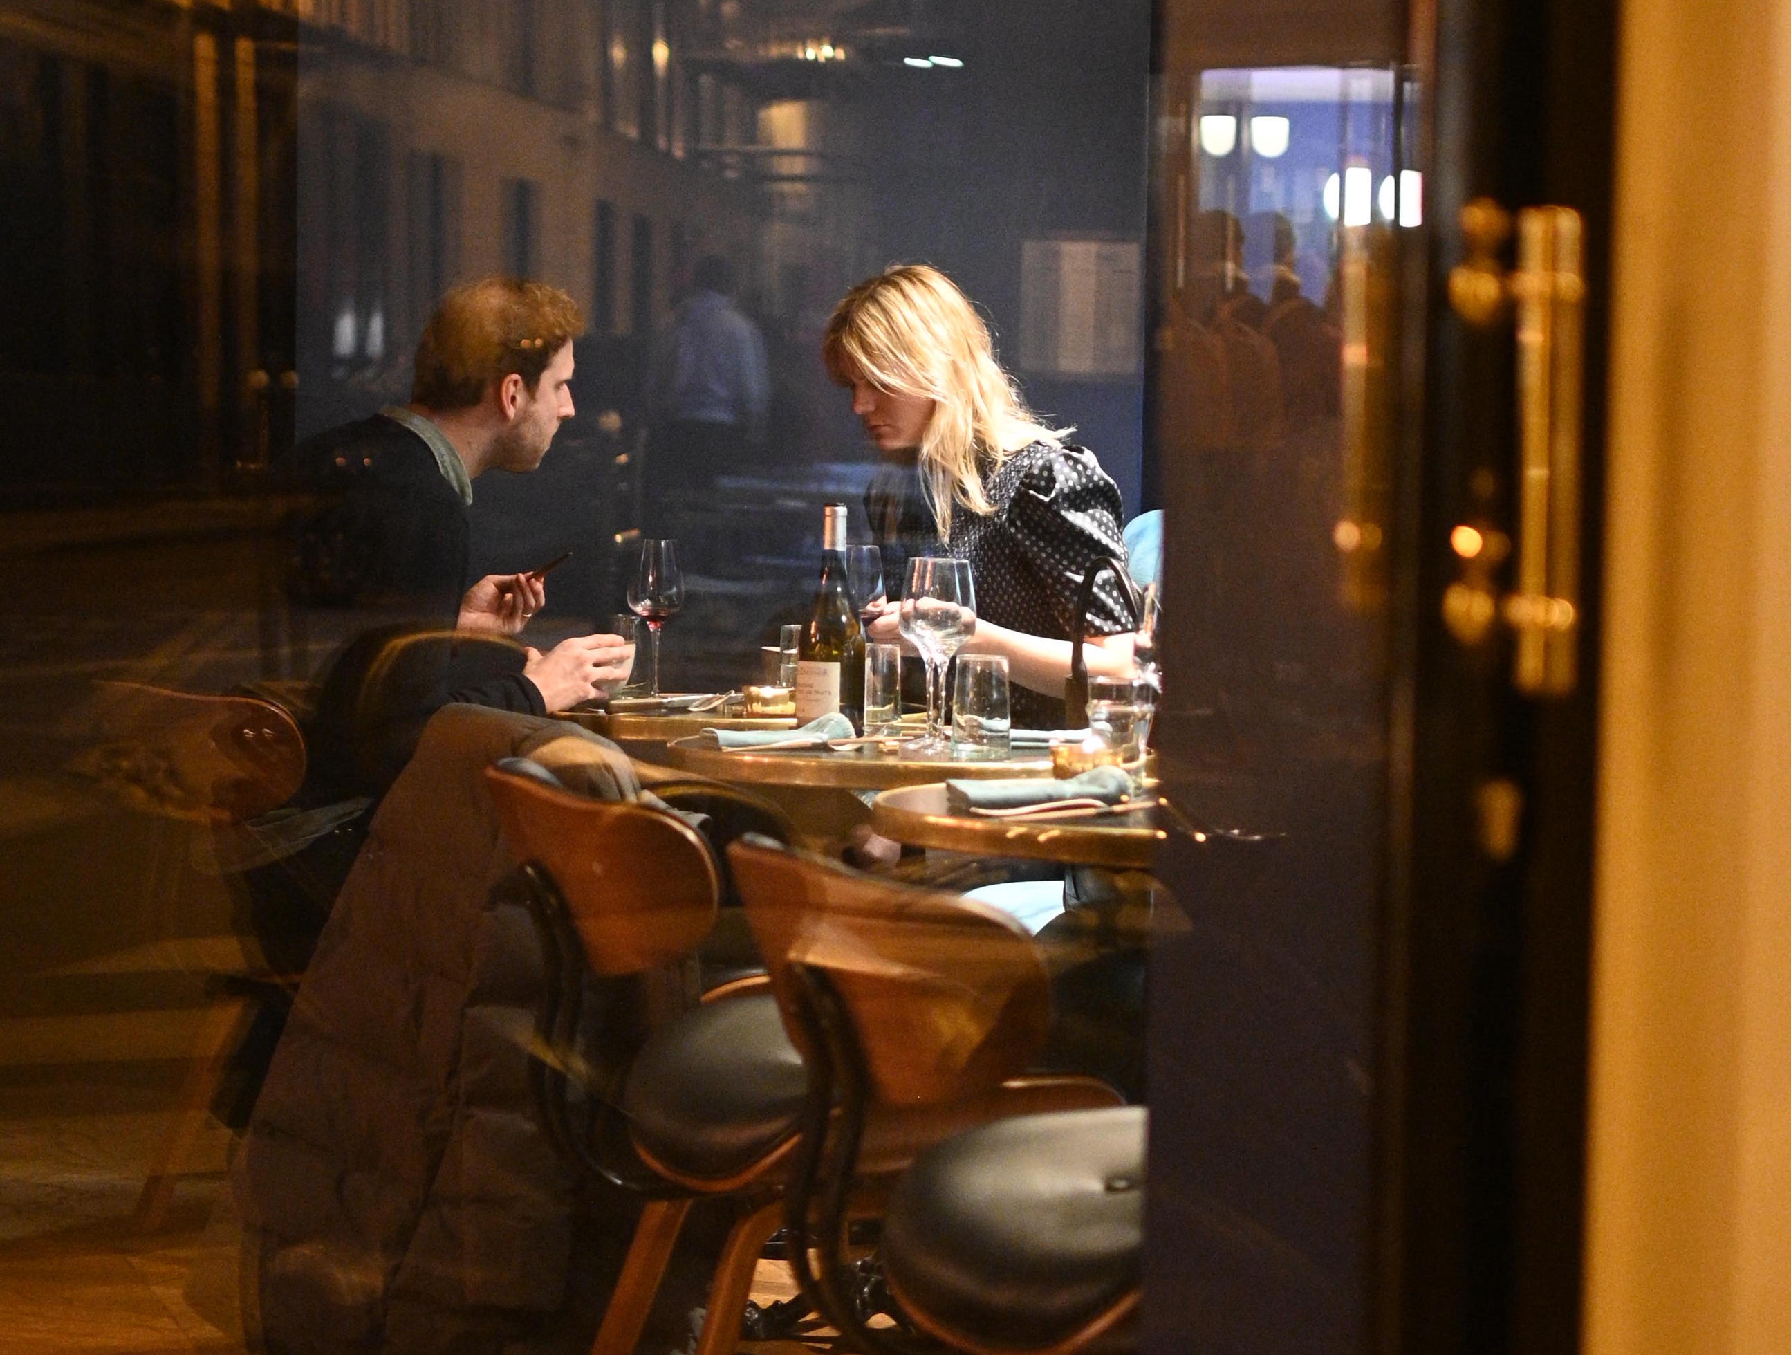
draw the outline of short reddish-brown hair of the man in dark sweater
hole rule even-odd
[[[578,305],[557,287],[523,278],[455,287],[417,342],[410,398],[424,409],[469,409],[512,371],[534,391],[553,355],[582,332]]]

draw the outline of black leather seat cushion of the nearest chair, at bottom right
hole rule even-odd
[[[915,1160],[890,1199],[885,1271],[940,1333],[1046,1348],[1137,1290],[1143,1219],[1144,1108],[999,1120]],[[1087,1350],[1134,1348],[1121,1326]]]

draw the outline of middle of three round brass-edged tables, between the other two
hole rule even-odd
[[[749,785],[777,799],[790,814],[804,846],[833,848],[861,823],[870,823],[869,792],[924,785],[942,776],[1050,776],[1050,756],[1003,762],[946,762],[903,758],[874,744],[844,751],[790,749],[784,753],[729,751],[691,735],[666,744],[666,760],[682,771],[718,781]]]

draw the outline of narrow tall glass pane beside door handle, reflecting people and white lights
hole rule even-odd
[[[1182,52],[1178,57],[1186,57]],[[1361,1350],[1374,1242],[1401,233],[1415,91],[1370,66],[1170,63],[1150,448],[1173,803],[1259,839],[1162,869],[1146,1344]],[[1250,1238],[1245,1242],[1243,1238]]]

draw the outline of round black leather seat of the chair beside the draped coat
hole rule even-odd
[[[725,1179],[795,1133],[806,1092],[776,998],[743,993],[654,1032],[629,1066],[621,1111],[666,1167]]]

